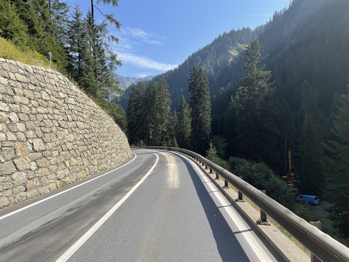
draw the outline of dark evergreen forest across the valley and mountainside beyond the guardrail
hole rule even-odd
[[[287,152],[291,150],[299,193],[331,203],[333,227],[325,231],[348,245],[348,11],[348,1],[291,1],[254,30],[224,32],[177,68],[151,82],[131,85],[120,104],[127,108],[129,127],[131,122],[147,126],[136,128],[147,130],[145,135],[143,131],[142,135],[129,133],[131,144],[178,145],[204,155],[208,150],[208,157],[222,167],[249,176],[259,189],[270,188],[270,195],[299,216],[316,219],[311,210],[295,203],[293,194],[284,191],[281,180],[272,179],[289,171]],[[200,92],[210,115],[198,112],[193,102],[197,98],[192,83],[202,83],[193,80],[193,70],[205,74],[208,81],[209,93]],[[171,140],[155,139],[155,124],[142,123],[144,117],[134,118],[136,104],[149,110],[159,103],[149,104],[145,97],[148,89],[164,83],[168,123],[157,132],[160,138],[168,130]],[[135,97],[144,99],[135,102]],[[149,116],[149,112],[139,114]],[[198,122],[202,119],[211,126]],[[163,120],[159,123],[164,125]],[[199,137],[202,148],[194,140]],[[210,139],[223,143],[209,148]],[[217,152],[216,146],[221,150]],[[261,182],[256,174],[269,182]]]

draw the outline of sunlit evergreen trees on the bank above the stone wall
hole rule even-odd
[[[119,96],[124,92],[114,79],[114,71],[122,64],[110,48],[119,39],[109,33],[107,24],[119,30],[120,22],[113,14],[103,14],[100,24],[94,19],[98,4],[109,3],[118,6],[118,0],[91,1],[84,15],[77,2],[69,7],[60,0],[0,0],[0,37],[23,52],[44,56],[51,52],[58,71],[118,123],[123,110],[108,99],[110,93]]]

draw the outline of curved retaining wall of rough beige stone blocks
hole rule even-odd
[[[0,58],[0,208],[130,158],[125,134],[67,78]]]

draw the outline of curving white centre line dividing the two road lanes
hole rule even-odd
[[[155,154],[154,152],[152,153]],[[139,187],[139,185],[144,181],[144,179],[147,178],[147,176],[150,174],[151,171],[153,171],[154,167],[156,166],[159,160],[159,156],[157,154],[155,155],[155,164],[152,168],[150,168],[148,173],[145,176],[143,176],[143,178],[123,198],[121,198],[120,201],[111,208],[111,210],[109,210],[101,219],[99,219],[98,222],[89,229],[89,231],[87,231],[79,240],[75,242],[73,246],[71,246],[58,260],[56,260],[56,262],[66,262],[69,259],[69,257],[72,256],[76,252],[76,250],[79,249],[82,246],[82,244],[85,243],[86,240],[88,240],[90,236],[93,233],[95,233],[100,226],[103,225],[103,223],[119,208],[119,206],[121,206],[121,204],[125,202],[125,200],[136,190],[136,188]]]

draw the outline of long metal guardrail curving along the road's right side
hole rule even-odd
[[[328,234],[325,234],[315,226],[312,226],[303,218],[298,217],[289,209],[285,208],[266,194],[263,194],[263,192],[240,179],[238,176],[230,173],[201,155],[190,150],[176,147],[132,146],[131,148],[175,151],[202,162],[202,165],[205,165],[206,168],[210,168],[210,172],[213,170],[216,174],[221,175],[225,180],[225,185],[228,185],[229,182],[239,190],[239,192],[242,192],[242,194],[250,198],[253,203],[279,223],[280,226],[301,242],[312,254],[318,257],[318,259],[323,262],[349,262],[349,248],[333,239]]]

